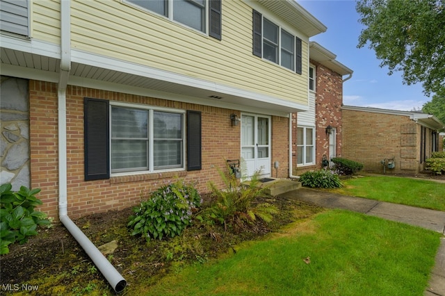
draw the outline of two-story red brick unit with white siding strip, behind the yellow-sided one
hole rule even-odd
[[[309,111],[293,113],[293,174],[318,170],[323,158],[341,156],[343,82],[350,79],[353,70],[336,57],[320,44],[309,43]]]

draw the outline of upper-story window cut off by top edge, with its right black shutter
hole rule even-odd
[[[221,0],[127,0],[221,40]],[[209,13],[207,14],[207,7]],[[208,18],[208,19],[207,19]],[[208,21],[208,22],[207,22]],[[209,30],[207,30],[207,24]]]

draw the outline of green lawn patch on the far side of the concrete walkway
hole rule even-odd
[[[364,176],[346,179],[342,188],[329,191],[445,211],[445,183],[435,181],[395,176]]]

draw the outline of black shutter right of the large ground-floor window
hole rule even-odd
[[[201,167],[201,113],[187,110],[187,170]]]

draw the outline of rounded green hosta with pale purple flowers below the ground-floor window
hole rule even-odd
[[[201,197],[192,185],[177,181],[152,192],[149,199],[133,208],[127,227],[132,236],[145,240],[179,236],[191,224],[192,213],[201,204]]]

